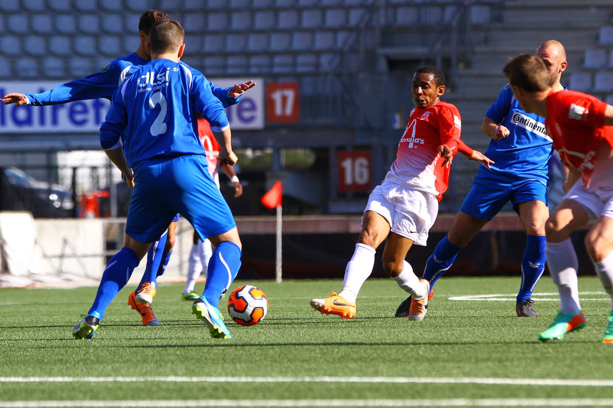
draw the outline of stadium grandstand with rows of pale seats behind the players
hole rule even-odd
[[[151,8],[181,21],[183,61],[213,83],[258,83],[229,111],[240,157],[261,158],[259,164],[238,163],[245,195],[229,202],[240,216],[272,214],[259,197],[282,180],[284,213],[353,214],[351,222],[315,218],[322,231],[334,225],[332,232],[355,234],[346,225],[359,220],[368,193],[394,160],[413,107],[411,75],[420,65],[444,70],[443,99],[458,106],[462,138],[481,151],[489,142],[481,121],[504,86],[504,62],[533,53],[544,40],[566,46],[563,83],[613,101],[613,4],[606,0],[2,0],[0,93],[47,90],[133,52],[139,17]],[[88,153],[99,150],[105,104],[0,105],[0,187],[7,188],[7,172],[13,171],[13,180],[44,185],[40,190],[55,197],[51,205],[66,208],[39,215],[32,210],[36,198],[24,199],[23,209],[37,218],[86,215],[86,200],[95,202],[96,216],[121,215],[118,174]],[[67,153],[73,151],[80,153]],[[457,212],[476,171],[474,161],[454,161],[441,213]],[[0,210],[15,210],[5,191]],[[37,224],[39,238],[32,242],[45,228],[58,228],[58,220],[49,222]],[[243,222],[256,239],[272,231],[258,234]],[[93,256],[100,252],[94,247],[121,235],[121,224],[113,225],[91,248],[72,248],[75,232],[70,241],[42,245],[41,256],[86,254],[64,265],[98,273],[104,257]],[[97,259],[95,267],[84,264],[91,259]],[[55,258],[47,263],[59,268]]]

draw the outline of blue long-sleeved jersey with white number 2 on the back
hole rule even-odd
[[[120,146],[128,165],[153,158],[206,155],[198,138],[197,116],[213,132],[229,126],[226,111],[199,71],[181,62],[156,59],[136,70],[113,94],[109,113],[100,127],[100,144]]]

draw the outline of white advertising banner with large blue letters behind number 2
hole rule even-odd
[[[243,83],[243,78],[216,78],[211,82],[220,87]],[[264,81],[256,78],[257,86],[249,89],[237,105],[226,109],[230,127],[261,129],[264,127]],[[0,96],[9,92],[37,94],[49,91],[66,81],[0,82]],[[109,110],[106,99],[83,100],[50,106],[17,106],[0,103],[0,133],[98,133]]]

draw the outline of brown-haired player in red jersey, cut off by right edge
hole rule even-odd
[[[546,117],[547,133],[568,169],[566,195],[545,225],[547,265],[558,286],[560,312],[539,340],[562,339],[585,325],[570,234],[593,223],[585,248],[611,297],[603,342],[613,344],[613,106],[582,92],[553,91],[543,61],[529,54],[509,61],[504,73],[522,108]]]

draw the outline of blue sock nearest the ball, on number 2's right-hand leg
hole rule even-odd
[[[200,297],[207,299],[213,306],[219,305],[221,294],[230,287],[240,269],[240,248],[234,242],[219,243],[208,261],[207,283]]]

